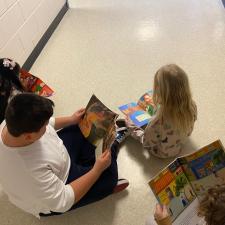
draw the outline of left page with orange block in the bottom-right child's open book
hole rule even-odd
[[[160,204],[165,204],[174,221],[196,195],[178,160],[154,177],[149,185]]]

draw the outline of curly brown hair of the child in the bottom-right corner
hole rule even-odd
[[[209,189],[198,211],[208,225],[225,225],[225,184]]]

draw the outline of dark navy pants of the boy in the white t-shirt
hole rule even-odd
[[[71,183],[77,178],[86,174],[95,163],[95,146],[90,144],[81,133],[78,126],[69,126],[57,132],[58,136],[62,139],[71,160],[69,176],[66,184]],[[112,163],[102,173],[99,179],[86,193],[86,195],[70,210],[82,207],[84,205],[96,202],[112,194],[114,187],[118,180],[117,170],[117,150],[118,144],[114,143],[111,148]],[[75,193],[76,195],[76,193]],[[76,197],[76,196],[75,196]],[[61,213],[52,212],[51,214],[41,216],[59,215]]]

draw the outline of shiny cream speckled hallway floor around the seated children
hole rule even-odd
[[[225,11],[221,0],[74,0],[32,72],[54,88],[55,115],[95,93],[111,109],[152,87],[155,71],[177,63],[189,74],[198,121],[183,153],[220,138],[225,145]],[[71,4],[72,5],[72,4]],[[119,155],[127,191],[66,215],[36,220],[1,196],[0,224],[143,225],[155,198],[157,160],[128,139]]]

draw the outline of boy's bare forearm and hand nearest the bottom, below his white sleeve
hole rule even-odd
[[[111,152],[106,150],[96,160],[94,167],[85,175],[70,183],[75,193],[75,203],[78,202],[98,180],[102,172],[111,164]]]

